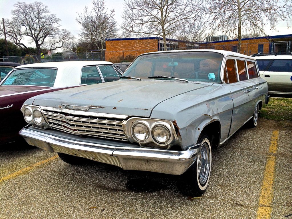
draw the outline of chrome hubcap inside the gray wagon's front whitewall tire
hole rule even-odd
[[[198,156],[198,174],[201,185],[204,185],[209,176],[210,171],[210,150],[209,145],[204,142],[201,147],[201,153]]]

